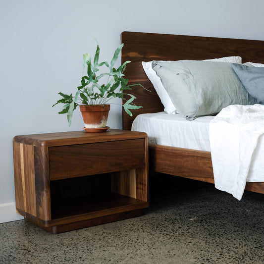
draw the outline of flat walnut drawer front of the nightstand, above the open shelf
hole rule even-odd
[[[50,147],[49,160],[51,180],[142,168],[145,139]]]

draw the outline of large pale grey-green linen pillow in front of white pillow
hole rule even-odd
[[[253,105],[253,99],[232,69],[232,63],[178,60],[153,61],[172,103],[186,119],[218,113],[229,105]]]

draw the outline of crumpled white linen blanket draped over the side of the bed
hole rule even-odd
[[[211,120],[209,133],[215,188],[241,200],[264,135],[264,106],[227,106]]]

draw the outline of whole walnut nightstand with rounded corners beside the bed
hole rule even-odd
[[[13,153],[17,212],[50,232],[139,216],[149,207],[145,133],[16,136]]]

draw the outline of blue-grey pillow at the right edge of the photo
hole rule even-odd
[[[248,93],[264,105],[264,67],[252,67],[233,63],[232,68]]]

